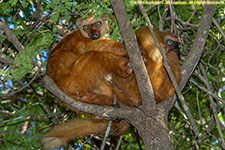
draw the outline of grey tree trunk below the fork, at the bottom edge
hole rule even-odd
[[[168,113],[165,110],[158,112],[160,113],[154,117],[155,119],[139,113],[132,123],[142,137],[146,150],[172,150],[173,144],[167,128]]]

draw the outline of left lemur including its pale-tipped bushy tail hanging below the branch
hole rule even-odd
[[[123,44],[107,37],[108,21],[105,16],[95,20],[91,15],[78,21],[79,29],[64,36],[51,50],[46,74],[68,96],[75,100],[113,105],[113,88],[108,81],[112,74],[127,77],[132,69]],[[106,35],[106,37],[105,37]],[[58,100],[71,110],[81,113]],[[95,118],[95,116],[93,117]],[[57,125],[40,139],[43,149],[51,150],[73,138],[103,134],[108,121],[74,118]],[[113,122],[113,135],[123,134],[129,124]]]

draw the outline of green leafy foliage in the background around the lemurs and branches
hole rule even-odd
[[[137,5],[131,5],[129,1],[126,1],[126,3],[128,16],[134,30],[146,25],[143,16],[138,11]],[[45,72],[48,51],[63,36],[63,33],[57,30],[58,25],[71,31],[76,28],[76,20],[87,16],[88,13],[95,14],[97,18],[107,14],[111,25],[112,38],[121,40],[120,30],[109,1],[103,2],[98,0],[93,3],[91,0],[44,0],[41,3],[41,7],[43,13],[50,16],[52,23],[50,26],[43,20],[40,20],[41,15],[39,15],[39,18],[35,17],[37,5],[37,2],[30,0],[3,0],[0,3],[1,21],[9,25],[12,32],[24,46],[23,52],[19,52],[5,34],[0,34],[0,55],[4,54],[8,58],[13,59],[12,64],[0,61],[0,149],[2,150],[38,149],[40,147],[38,143],[39,136],[50,129],[51,125],[76,116],[68,109],[56,104],[54,97],[47,92],[41,83],[41,78]],[[145,5],[145,8],[148,7],[149,5]],[[166,5],[160,5],[160,15],[167,8]],[[192,15],[194,9],[195,7],[191,5],[176,5],[174,6],[174,13],[175,16],[185,23]],[[181,22],[175,21],[176,31],[182,38],[182,61],[185,60],[186,55],[190,51],[197,32],[197,28],[194,25],[200,22],[202,11],[203,7],[199,6],[194,16],[190,19],[189,23],[191,25],[189,26],[181,25]],[[224,11],[225,6],[218,5],[215,14],[215,19],[223,31],[225,30]],[[157,6],[148,11],[148,16],[156,27],[160,24],[160,15],[158,14]],[[166,18],[164,18],[164,29],[171,28],[170,16],[171,14],[168,11]],[[0,33],[4,32],[0,30]],[[218,27],[212,24],[204,54],[200,61],[206,70],[206,77],[211,83],[211,91],[223,99],[225,99],[224,40]],[[39,69],[41,69],[40,72],[37,71]],[[199,65],[196,71],[199,74],[202,73]],[[38,74],[37,79],[32,84],[29,84],[36,74]],[[205,81],[201,80],[198,74],[194,74],[192,79],[198,85],[205,87]],[[29,86],[17,92],[17,90],[28,84]],[[198,85],[189,82],[183,94],[200,129],[200,137],[202,137],[207,133],[208,123],[212,120],[213,115],[209,95],[199,89]],[[16,93],[12,96],[4,96],[4,94],[11,92]],[[225,104],[215,99],[214,101],[217,102],[217,116],[223,125],[221,127],[222,132],[225,133]],[[175,148],[191,149],[195,146],[196,139],[193,133],[190,132],[188,120],[176,108],[171,109],[168,124],[172,132]],[[208,134],[209,138],[203,141],[201,148],[210,149],[211,146],[213,149],[220,149],[221,143],[219,140],[221,137],[215,124]],[[225,138],[225,134],[223,136]],[[121,149],[139,148],[136,134],[133,130],[130,130],[123,139]],[[86,141],[90,142],[85,143]],[[77,145],[83,146],[82,149],[94,149],[96,145],[90,138],[84,138],[71,142],[67,148],[71,149],[74,143],[75,147],[78,147]],[[143,149],[143,142],[140,141],[140,143]]]

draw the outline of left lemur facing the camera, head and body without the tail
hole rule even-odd
[[[77,23],[79,30],[64,36],[52,49],[46,74],[64,93],[90,104],[112,105],[113,90],[107,79],[114,73],[128,76],[126,48],[107,35],[105,16],[95,20],[88,18]],[[93,39],[93,40],[92,40]]]

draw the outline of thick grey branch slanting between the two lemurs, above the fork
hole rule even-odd
[[[154,109],[156,103],[153,95],[153,88],[150,83],[145,64],[142,60],[136,37],[133,33],[133,29],[127,15],[124,1],[111,0],[111,4],[116,14],[119,28],[136,75],[138,88],[142,97],[142,104],[146,110]]]

